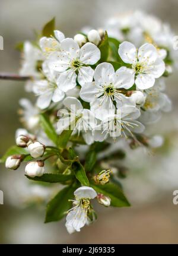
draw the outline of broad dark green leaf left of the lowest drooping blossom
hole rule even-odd
[[[74,198],[75,189],[76,187],[74,185],[65,187],[49,201],[47,204],[45,223],[56,222],[65,216],[66,211],[72,208],[72,202],[68,200]]]

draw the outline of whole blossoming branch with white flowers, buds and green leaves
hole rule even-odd
[[[163,142],[148,125],[169,112],[165,80],[177,57],[167,24],[141,12],[114,18],[104,29],[84,28],[74,38],[49,21],[34,42],[20,44],[19,75],[36,103],[21,99],[24,128],[1,158],[26,178],[61,184],[47,204],[45,222],[66,217],[69,233],[96,220],[92,203],[130,206],[120,179],[128,147],[151,150]],[[119,160],[119,163],[118,161]]]

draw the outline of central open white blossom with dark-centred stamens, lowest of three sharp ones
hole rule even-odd
[[[91,110],[100,116],[110,109],[125,103],[132,104],[129,97],[122,93],[122,89],[129,89],[134,84],[134,78],[128,71],[113,68],[112,64],[103,62],[94,71],[94,82],[86,83],[81,88],[80,97],[85,102],[90,102]]]

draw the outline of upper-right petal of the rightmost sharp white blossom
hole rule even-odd
[[[148,62],[148,64],[155,62],[158,58],[157,49],[151,43],[145,43],[138,49],[139,62]]]

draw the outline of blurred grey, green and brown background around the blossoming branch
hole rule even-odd
[[[170,23],[178,33],[177,0],[1,0],[0,35],[4,50],[0,51],[0,72],[18,72],[20,53],[15,45],[34,38],[47,21],[56,17],[59,30],[72,37],[81,27],[102,26],[106,18],[122,12],[143,10]],[[44,224],[43,196],[51,197],[50,189],[30,185],[23,167],[17,171],[1,165],[0,189],[4,191],[4,205],[0,205],[1,244],[135,244],[178,243],[178,205],[174,205],[173,191],[178,189],[178,90],[177,74],[167,78],[167,93],[173,101],[173,110],[158,124],[152,125],[151,134],[165,137],[164,145],[154,153],[142,148],[128,150],[124,165],[130,167],[128,177],[122,180],[130,208],[97,206],[98,220],[80,233],[69,235],[65,220]],[[29,97],[24,83],[0,80],[0,154],[14,144],[18,121],[18,100]],[[58,191],[58,187],[53,188]],[[33,204],[30,198],[35,197]],[[28,203],[28,207],[26,204]]]

